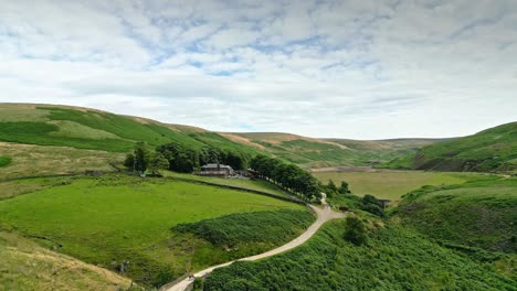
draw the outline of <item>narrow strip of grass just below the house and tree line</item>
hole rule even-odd
[[[208,183],[224,185],[224,186],[233,186],[233,187],[242,187],[242,188],[262,191],[262,192],[278,195],[278,196],[287,196],[287,194],[283,192],[282,188],[266,181],[199,176],[199,175],[192,175],[192,174],[176,173],[171,171],[162,171],[162,173],[165,176],[170,176],[170,177],[188,179],[188,180],[208,182]]]

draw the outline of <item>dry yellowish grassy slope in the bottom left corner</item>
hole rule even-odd
[[[0,231],[0,290],[128,290],[119,274]],[[135,289],[137,290],[137,289]]]

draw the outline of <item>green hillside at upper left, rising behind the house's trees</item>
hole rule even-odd
[[[137,141],[151,147],[175,141],[193,149],[211,144],[234,151],[255,151],[192,127],[87,108],[25,104],[0,104],[0,141],[108,152],[127,152]]]

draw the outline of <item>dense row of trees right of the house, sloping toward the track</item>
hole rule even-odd
[[[315,201],[321,197],[321,184],[312,174],[295,164],[258,154],[250,162],[263,179],[270,180],[302,197]]]

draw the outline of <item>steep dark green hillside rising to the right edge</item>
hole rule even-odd
[[[433,171],[517,171],[517,122],[433,143],[382,166]]]

